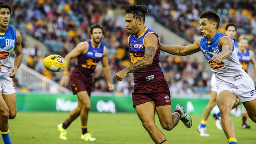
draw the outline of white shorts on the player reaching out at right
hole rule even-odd
[[[239,98],[240,102],[249,102],[256,98],[254,82],[252,81],[249,75],[247,76],[246,80],[238,86],[218,84],[217,94],[219,94],[223,90],[228,90],[235,94],[237,98]]]

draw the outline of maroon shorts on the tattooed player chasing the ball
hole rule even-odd
[[[132,93],[134,108],[136,105],[150,101],[153,101],[156,107],[171,105],[170,90],[165,79],[134,88]]]

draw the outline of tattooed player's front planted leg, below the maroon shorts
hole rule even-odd
[[[148,131],[150,137],[156,144],[166,140],[163,133],[155,125],[155,104],[154,102],[145,102],[135,106],[139,119],[143,127]],[[163,144],[167,144],[166,142]]]

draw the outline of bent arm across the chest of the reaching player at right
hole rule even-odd
[[[222,49],[219,54],[208,52],[209,54],[213,55],[211,59],[214,63],[220,63],[222,59],[229,57],[232,54],[234,44],[230,37],[221,37],[219,39],[219,46],[221,46]]]

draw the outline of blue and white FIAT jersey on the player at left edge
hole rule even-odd
[[[3,63],[0,77],[8,77],[11,71],[10,54],[17,43],[16,30],[11,26],[5,33],[0,33],[0,63]]]

